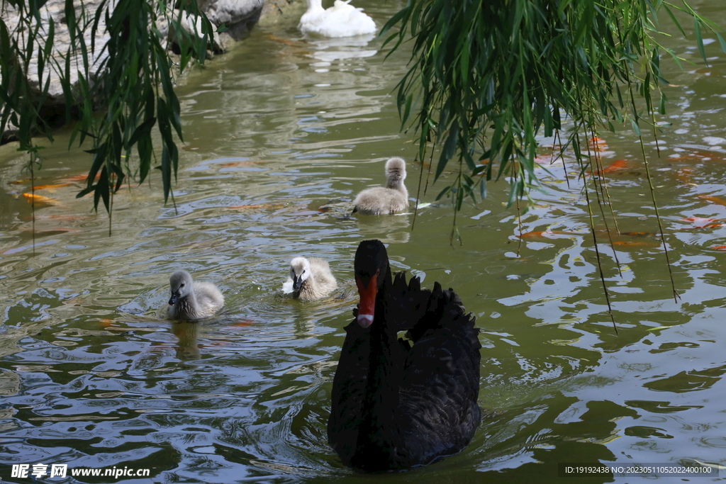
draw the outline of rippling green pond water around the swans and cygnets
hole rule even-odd
[[[699,11],[719,19],[719,2]],[[403,2],[370,0],[383,25]],[[661,157],[646,138],[674,300],[645,164],[629,131],[601,134],[620,234],[594,214],[613,331],[588,211],[571,160],[540,172],[544,193],[517,221],[508,184],[457,216],[419,195],[412,214],[347,217],[356,192],[415,147],[391,91],[405,52],[305,38],[294,21],[256,28],[179,86],[184,147],[174,205],[160,180],[114,198],[113,232],[76,199],[89,157],[44,149],[33,215],[15,147],[0,149],[0,480],[12,464],[150,469],[150,477],[38,482],[550,483],[558,463],[726,464],[726,62],[709,66],[675,36]],[[546,141],[545,141],[546,142]],[[543,152],[546,149],[543,149]],[[625,160],[612,164],[616,160]],[[423,185],[426,184],[424,177]],[[542,232],[549,232],[542,234]],[[523,237],[518,237],[525,234]],[[357,302],[354,250],[388,245],[392,265],[460,293],[481,329],[485,409],[473,442],[420,469],[363,475],[327,445],[343,326]],[[327,259],[331,297],[282,295],[290,259]],[[620,272],[614,263],[619,261]],[[199,323],[161,318],[168,275],[215,282],[226,311]],[[717,470],[714,469],[714,472]],[[726,475],[726,474],[724,474]],[[714,477],[703,478],[706,482]],[[578,482],[632,482],[591,476]],[[700,482],[700,481],[699,481]]]

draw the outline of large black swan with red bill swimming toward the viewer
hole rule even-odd
[[[453,290],[391,277],[386,247],[361,242],[360,303],[346,326],[327,422],[343,464],[365,471],[430,464],[461,451],[478,427],[478,329]],[[408,331],[413,341],[399,339]]]

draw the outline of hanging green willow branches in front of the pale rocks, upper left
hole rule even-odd
[[[51,73],[60,77],[66,99],[65,118],[78,118],[70,137],[93,146],[86,188],[78,197],[93,193],[94,208],[103,201],[111,213],[113,193],[126,178],[142,183],[150,173],[155,147],[152,130],[161,135],[159,165],[164,200],[171,192],[171,177],[176,177],[179,153],[174,134],[181,139],[179,99],[174,93],[174,71],[166,50],[166,38],[156,27],[159,17],[171,25],[181,57],[179,70],[192,57],[203,62],[207,38],[213,32],[210,22],[197,9],[194,0],[181,0],[178,15],[165,1],[103,0],[96,12],[86,12],[65,1],[65,23],[69,28],[67,52],[53,54],[55,25],[41,19],[43,0],[2,0],[2,8],[12,6],[20,13],[20,24],[12,31],[0,19],[0,133],[10,125],[17,127],[20,150],[30,155],[29,168],[38,159],[32,136],[38,131],[52,141],[41,111],[48,97]],[[189,36],[181,28],[183,12],[203,18],[203,38]],[[187,15],[188,15],[187,14]],[[96,44],[99,25],[105,23],[105,43]],[[91,36],[84,36],[84,33]],[[90,40],[90,44],[89,44]],[[5,53],[12,53],[7,55]],[[35,57],[33,57],[35,56]],[[28,78],[37,61],[37,80]],[[97,64],[94,65],[94,62]],[[99,62],[99,64],[98,64]],[[77,74],[77,83],[72,75]],[[99,111],[98,113],[95,113]],[[138,157],[133,156],[136,146]],[[132,161],[134,160],[134,161]]]

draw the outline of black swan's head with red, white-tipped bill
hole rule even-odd
[[[380,240],[364,240],[356,250],[354,262],[356,285],[360,295],[358,305],[358,324],[367,328],[373,322],[375,296],[386,282],[388,273],[388,253]]]

